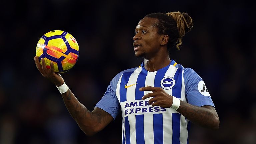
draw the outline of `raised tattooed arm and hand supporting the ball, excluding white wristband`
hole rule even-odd
[[[34,60],[37,69],[43,77],[49,79],[57,87],[64,84],[64,80],[60,74],[54,73],[52,63],[50,64],[50,70],[48,70],[44,59],[42,59],[42,65],[37,56],[34,57]],[[87,110],[86,107],[77,100],[70,89],[61,95],[70,115],[86,135],[94,135],[113,121],[113,117],[100,108],[96,107],[92,112]]]

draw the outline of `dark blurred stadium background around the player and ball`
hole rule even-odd
[[[203,78],[220,118],[217,131],[192,125],[190,143],[255,144],[255,6],[246,1],[1,1],[0,143],[121,143],[121,115],[95,136],[79,129],[57,88],[36,69],[36,44],[51,30],[76,38],[78,62],[62,77],[92,111],[116,74],[143,61],[132,46],[137,23],[152,12],[180,11],[192,17],[194,27],[170,58]]]

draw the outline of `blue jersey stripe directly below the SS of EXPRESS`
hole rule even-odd
[[[164,143],[163,114],[153,114],[154,143]]]

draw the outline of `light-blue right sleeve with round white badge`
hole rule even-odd
[[[195,106],[214,106],[202,78],[191,68],[184,69],[185,93],[188,103]]]

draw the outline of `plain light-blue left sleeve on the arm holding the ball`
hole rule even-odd
[[[107,88],[107,91],[95,106],[109,113],[114,119],[116,118],[116,116],[120,111],[120,103],[115,93],[117,82],[120,77],[121,77],[121,73],[119,73],[112,79],[112,81],[110,82],[110,85]]]

